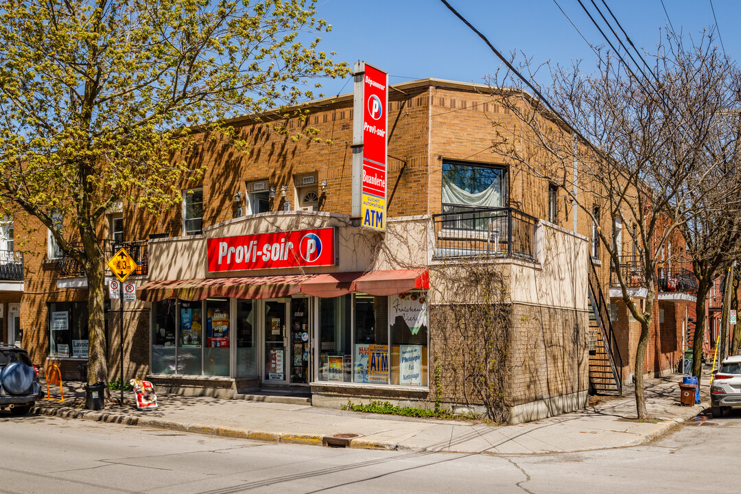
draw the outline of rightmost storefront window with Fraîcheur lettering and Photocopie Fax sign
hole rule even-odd
[[[391,384],[428,385],[428,305],[425,292],[391,297]]]

